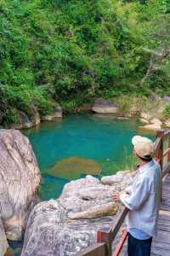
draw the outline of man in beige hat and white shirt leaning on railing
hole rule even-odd
[[[154,144],[150,139],[135,136],[132,143],[133,154],[139,159],[139,169],[133,185],[114,195],[113,199],[122,201],[129,209],[128,256],[150,256],[161,202],[161,167],[153,160]]]

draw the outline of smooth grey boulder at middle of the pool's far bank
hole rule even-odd
[[[95,113],[118,113],[118,107],[116,103],[99,98],[94,102],[92,111]]]

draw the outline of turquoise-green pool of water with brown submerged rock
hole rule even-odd
[[[93,174],[111,175],[133,165],[136,120],[75,114],[24,131],[42,172],[42,200],[59,196],[65,183]]]

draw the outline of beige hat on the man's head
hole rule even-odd
[[[134,151],[140,157],[148,158],[154,155],[154,143],[149,138],[137,135],[132,138],[132,143]]]

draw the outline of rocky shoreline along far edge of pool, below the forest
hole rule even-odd
[[[126,99],[127,101],[127,99]],[[119,99],[105,100],[97,98],[94,104],[85,104],[77,108],[77,113],[98,113],[104,115],[113,115],[116,119],[139,119],[143,125],[139,126],[142,131],[159,131],[170,127],[169,118],[163,117],[164,109],[170,106],[170,96],[150,96],[146,102],[141,101],[138,97],[133,99],[128,106],[127,102],[119,102]],[[39,125],[43,121],[54,121],[63,117],[63,109],[59,103],[54,105],[54,113],[40,117],[37,108],[32,109],[32,115],[29,119],[26,113],[19,111],[19,121],[9,125],[12,129],[29,129]],[[3,128],[3,113],[0,113],[0,127]]]

